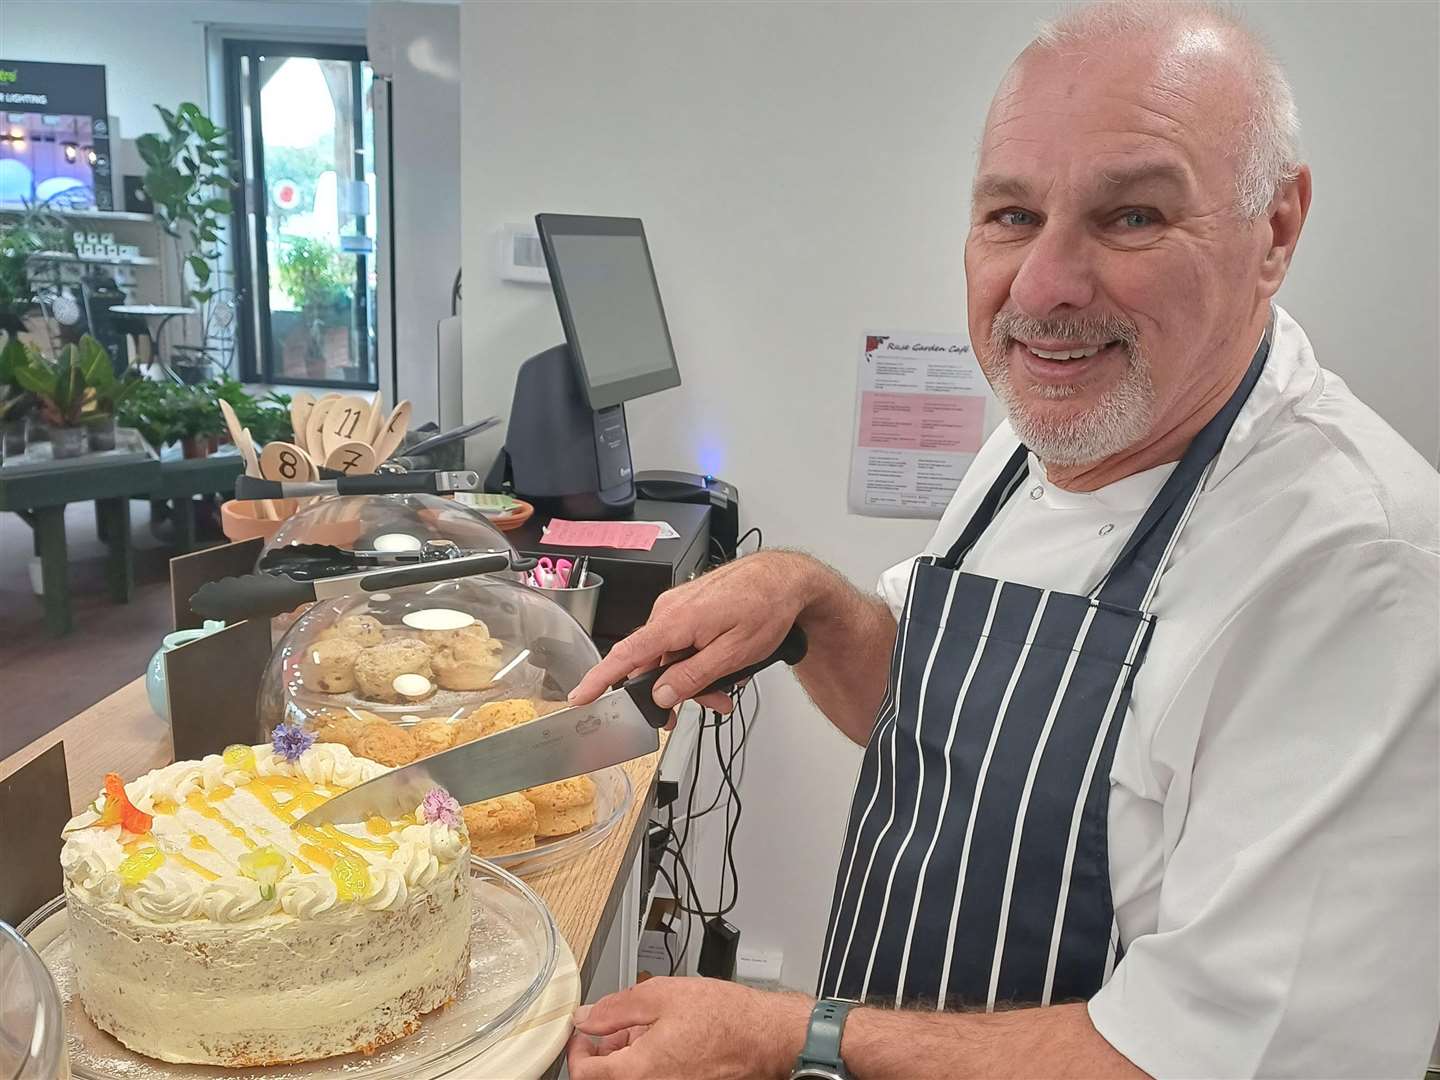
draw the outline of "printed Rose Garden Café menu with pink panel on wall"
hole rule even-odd
[[[960,334],[865,334],[850,508],[940,517],[985,441],[989,386]]]

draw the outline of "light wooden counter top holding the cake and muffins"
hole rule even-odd
[[[569,942],[580,971],[582,994],[595,973],[598,945],[609,932],[625,891],[626,871],[645,834],[665,739],[661,733],[661,752],[625,765],[635,788],[635,805],[609,837],[562,867],[524,878],[549,904],[560,935]],[[89,805],[107,772],[132,779],[170,765],[174,756],[170,724],[150,711],[145,683],[137,678],[6,757],[0,762],[0,779],[62,740],[73,812]]]

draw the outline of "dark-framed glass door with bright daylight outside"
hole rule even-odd
[[[248,382],[374,389],[374,76],[360,46],[226,42]]]

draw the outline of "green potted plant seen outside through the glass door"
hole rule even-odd
[[[350,269],[334,246],[310,236],[288,239],[278,265],[279,287],[301,315],[281,343],[284,369],[323,379],[350,361]]]

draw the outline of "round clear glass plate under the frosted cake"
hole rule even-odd
[[[223,1068],[156,1061],[122,1047],[85,1015],[75,992],[69,923],[59,896],[17,927],[55,976],[65,1009],[71,1070],[76,1080],[423,1080],[461,1076],[536,1002],[556,965],[554,919],[544,901],[513,874],[471,863],[469,972],[459,996],[426,1014],[413,1035],[369,1057],[344,1054],[271,1068]]]

